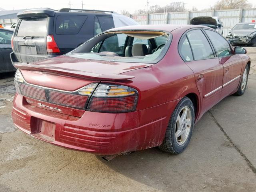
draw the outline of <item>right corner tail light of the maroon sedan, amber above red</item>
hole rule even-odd
[[[87,106],[87,111],[124,113],[136,110],[138,91],[123,85],[99,84]]]

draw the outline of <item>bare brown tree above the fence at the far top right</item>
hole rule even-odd
[[[238,9],[249,8],[247,0],[218,0],[211,9]]]

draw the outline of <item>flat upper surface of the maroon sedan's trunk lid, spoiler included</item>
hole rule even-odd
[[[30,64],[17,64],[15,67],[24,70],[53,72],[90,80],[115,81],[132,79],[134,76],[127,76],[122,73],[151,65],[153,64],[89,60],[63,55]]]

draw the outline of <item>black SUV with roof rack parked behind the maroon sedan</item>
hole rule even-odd
[[[49,8],[18,13],[12,37],[12,63],[65,54],[93,36],[114,28],[111,11]]]

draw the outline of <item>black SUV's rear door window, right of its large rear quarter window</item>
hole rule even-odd
[[[114,27],[115,25],[112,17],[96,16],[94,20],[94,35]]]

